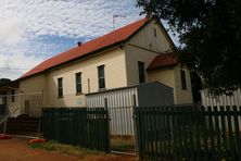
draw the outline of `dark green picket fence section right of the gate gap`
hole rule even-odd
[[[241,107],[137,108],[140,158],[241,160]]]

